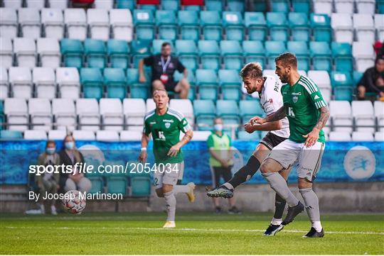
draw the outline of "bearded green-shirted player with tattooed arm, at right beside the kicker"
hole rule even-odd
[[[252,118],[252,122],[262,124],[287,116],[290,135],[287,140],[272,149],[260,170],[271,188],[287,201],[289,206],[287,216],[279,228],[282,230],[304,211],[304,205],[292,194],[287,182],[279,174],[281,169],[288,169],[298,163],[299,192],[311,220],[311,230],[303,238],[321,238],[324,236],[324,230],[320,222],[319,199],[312,189],[312,183],[324,152],[325,138],[321,129],[329,118],[329,109],[319,87],[311,79],[297,72],[295,55],[284,52],[275,62],[275,72],[284,84],[281,89],[284,105],[266,118]]]

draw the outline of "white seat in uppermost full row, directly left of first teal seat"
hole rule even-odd
[[[132,13],[129,9],[110,10],[110,23],[114,39],[132,41],[133,23]]]

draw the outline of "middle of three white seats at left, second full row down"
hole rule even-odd
[[[14,53],[18,67],[36,66],[36,43],[33,38],[14,38]]]

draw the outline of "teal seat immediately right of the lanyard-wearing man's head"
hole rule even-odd
[[[198,48],[193,40],[176,40],[178,59],[190,69],[198,69]]]

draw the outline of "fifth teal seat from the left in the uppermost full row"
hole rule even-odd
[[[223,26],[227,40],[244,40],[244,24],[238,11],[223,11]]]

